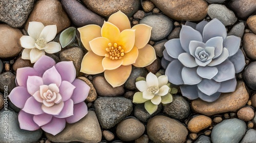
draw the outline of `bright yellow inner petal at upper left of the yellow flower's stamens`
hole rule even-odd
[[[108,38],[111,43],[115,43],[118,41],[120,35],[120,30],[110,22],[104,21],[103,26],[101,28],[101,36]]]

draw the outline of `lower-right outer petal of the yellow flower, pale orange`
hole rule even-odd
[[[139,49],[138,58],[133,65],[136,67],[145,67],[152,64],[156,59],[154,47],[146,44],[142,49]]]

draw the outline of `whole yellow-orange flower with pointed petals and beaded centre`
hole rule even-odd
[[[147,44],[151,27],[139,24],[131,28],[128,17],[118,11],[102,28],[88,25],[78,28],[82,44],[88,50],[81,63],[81,72],[99,74],[113,87],[128,79],[132,65],[145,67],[156,59],[154,48]]]

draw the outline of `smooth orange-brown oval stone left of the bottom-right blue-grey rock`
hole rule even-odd
[[[198,115],[193,117],[188,122],[188,130],[193,133],[198,133],[203,129],[208,128],[211,125],[211,118],[205,115]]]

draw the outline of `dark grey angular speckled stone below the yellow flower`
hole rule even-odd
[[[98,98],[94,107],[103,129],[114,127],[133,111],[132,101],[122,97]]]

